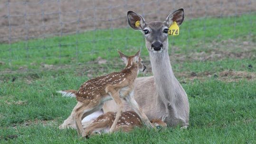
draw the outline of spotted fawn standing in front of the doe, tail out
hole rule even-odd
[[[78,91],[58,91],[58,93],[62,93],[63,95],[75,96],[78,101],[73,109],[75,112],[76,130],[78,135],[85,136],[81,119],[97,110],[101,110],[104,102],[112,99],[114,99],[118,105],[118,110],[109,132],[114,131],[114,127],[121,116],[123,110],[121,99],[124,99],[130,104],[146,125],[152,127],[151,122],[133,98],[134,80],[139,71],[144,71],[146,69],[140,58],[141,50],[134,56],[126,56],[120,51],[118,51],[118,53],[120,58],[126,63],[126,67],[121,72],[113,72],[105,76],[90,79],[81,85]]]

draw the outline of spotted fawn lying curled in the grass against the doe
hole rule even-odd
[[[100,115],[94,120],[88,127],[85,128],[85,136],[89,137],[95,134],[107,133],[109,128],[113,125],[116,113],[107,112]],[[152,119],[152,124],[159,127],[167,127],[166,123],[160,119]],[[134,127],[141,127],[142,120],[139,115],[134,111],[124,111],[121,114],[114,131],[122,130],[123,132],[129,132],[134,129]]]

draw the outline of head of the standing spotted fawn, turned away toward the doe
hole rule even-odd
[[[120,58],[125,62],[126,68],[131,68],[133,65],[137,66],[140,71],[145,71],[146,67],[143,64],[142,58],[140,58],[141,50],[139,50],[133,56],[126,56],[121,51],[118,51]]]

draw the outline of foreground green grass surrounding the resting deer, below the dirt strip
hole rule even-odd
[[[9,80],[0,85],[0,137],[3,144],[255,143],[256,81],[226,83],[207,78],[183,84],[190,101],[190,127],[187,130],[138,129],[129,134],[117,133],[83,140],[77,136],[76,130],[57,128],[68,117],[76,100],[62,98],[55,91],[76,89],[87,77],[56,71],[38,74],[31,84],[26,84],[26,76],[17,76],[20,78],[16,81]],[[15,104],[17,101],[25,103]],[[46,126],[40,122],[43,120],[48,121]],[[31,125],[26,126],[24,123],[28,121]],[[18,138],[4,140],[9,135],[17,135]]]

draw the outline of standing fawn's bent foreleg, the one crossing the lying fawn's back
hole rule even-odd
[[[110,127],[110,130],[109,132],[112,133],[114,132],[114,128],[121,116],[121,113],[123,111],[123,103],[121,101],[121,98],[119,96],[119,94],[117,93],[117,91],[112,88],[112,87],[108,87],[108,93],[110,93],[110,95],[112,96],[112,98],[114,99],[114,101],[116,102],[116,104],[118,105],[118,110],[117,110],[117,113],[116,113],[116,116],[115,116],[115,119],[114,119],[114,122],[112,124],[112,126]]]

